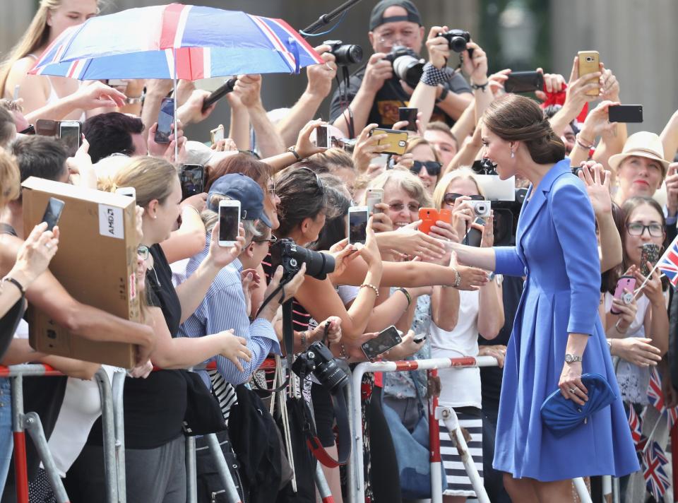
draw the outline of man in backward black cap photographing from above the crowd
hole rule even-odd
[[[332,97],[330,121],[347,136],[357,136],[367,124],[390,127],[398,122],[398,107],[408,106],[412,88],[394,75],[391,61],[384,58],[397,46],[419,54],[424,41],[420,13],[410,0],[381,0],[372,9],[369,30],[374,54],[351,76],[347,92],[340,85]],[[456,73],[439,85],[431,120],[454,124],[472,97],[470,86]]]

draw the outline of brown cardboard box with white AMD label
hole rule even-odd
[[[83,304],[138,321],[134,200],[36,177],[22,186],[25,235],[42,220],[50,197],[66,203],[59,220],[59,251],[49,264],[59,283]],[[134,365],[132,344],[90,341],[35,308],[28,311],[28,324],[35,350],[124,368]]]

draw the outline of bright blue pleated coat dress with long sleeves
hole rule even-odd
[[[569,333],[590,335],[583,372],[607,377],[617,397],[619,387],[598,316],[600,259],[586,189],[566,159],[528,194],[516,247],[494,248],[496,273],[527,277],[506,351],[494,468],[542,482],[638,471],[621,398],[563,437],[542,423]]]

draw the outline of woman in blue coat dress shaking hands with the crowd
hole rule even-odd
[[[583,404],[586,372],[607,377],[619,397],[598,316],[593,208],[563,160],[563,143],[533,100],[507,95],[493,102],[483,117],[482,142],[501,179],[517,175],[531,182],[516,247],[454,245],[463,264],[527,277],[506,350],[493,465],[506,472],[514,502],[571,502],[572,478],[638,470],[620,398],[559,438],[540,415],[556,389]]]

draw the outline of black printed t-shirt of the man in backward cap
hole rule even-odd
[[[358,93],[358,89],[362,84],[362,79],[365,76],[365,69],[366,67],[363,66],[349,79],[347,96],[347,102],[349,104]],[[444,85],[452,93],[460,94],[472,92],[470,85],[468,85],[460,73],[455,73],[453,78],[451,78]],[[337,88],[337,90],[335,90],[334,95],[332,96],[332,102],[330,105],[330,122],[334,122],[334,120],[345,110],[346,103],[343,103],[344,88],[345,85],[342,83]],[[384,82],[379,92],[376,93],[374,103],[372,104],[372,108],[369,111],[367,124],[379,124],[379,127],[386,128],[393,126],[393,124],[398,122],[398,108],[407,107],[409,102],[410,95],[408,95],[408,93],[406,93],[403,89],[403,86],[400,85],[400,80],[398,77],[393,76],[393,78]],[[450,126],[454,124],[454,120],[438,107],[434,107],[431,121],[442,121]],[[360,131],[355,131],[356,136],[359,134]]]

